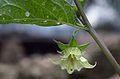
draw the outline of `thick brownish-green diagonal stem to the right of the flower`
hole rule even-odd
[[[82,17],[82,20],[84,21],[84,24],[88,27],[88,33],[93,37],[93,39],[96,41],[97,45],[101,48],[101,50],[103,51],[103,54],[106,56],[107,60],[109,61],[109,63],[112,65],[112,67],[115,69],[115,71],[117,72],[117,74],[120,76],[120,66],[117,63],[117,61],[115,60],[115,58],[112,56],[112,54],[110,53],[110,51],[108,50],[108,48],[106,47],[106,45],[104,44],[103,41],[100,40],[100,38],[98,37],[96,31],[92,28],[90,22],[88,21],[81,5],[79,4],[78,0],[74,0],[78,11],[79,11],[79,15]]]

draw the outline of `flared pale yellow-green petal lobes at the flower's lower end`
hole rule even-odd
[[[69,54],[69,56],[62,56],[58,62],[62,69],[66,69],[69,74],[74,70],[80,71],[82,68],[94,68],[95,65],[89,64],[86,58],[76,54]]]

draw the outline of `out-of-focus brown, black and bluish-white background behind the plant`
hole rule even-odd
[[[70,0],[69,0],[70,1]],[[120,64],[120,0],[88,0],[84,11],[101,39]],[[60,50],[53,40],[68,43],[75,28],[29,24],[0,25],[0,79],[120,79],[88,33],[81,30],[79,44],[91,42],[85,53],[93,69],[68,75],[51,60]]]

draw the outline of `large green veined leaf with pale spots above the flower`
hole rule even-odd
[[[73,8],[64,0],[0,0],[0,24],[77,25]]]

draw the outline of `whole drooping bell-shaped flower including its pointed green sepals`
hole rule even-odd
[[[61,60],[57,61],[57,64],[62,69],[66,69],[69,74],[72,74],[74,70],[80,71],[82,68],[94,68],[95,65],[89,64],[88,60],[84,58],[83,54],[85,48],[89,43],[78,45],[74,36],[72,36],[69,44],[63,44],[57,42],[58,46],[62,50],[60,52]]]

